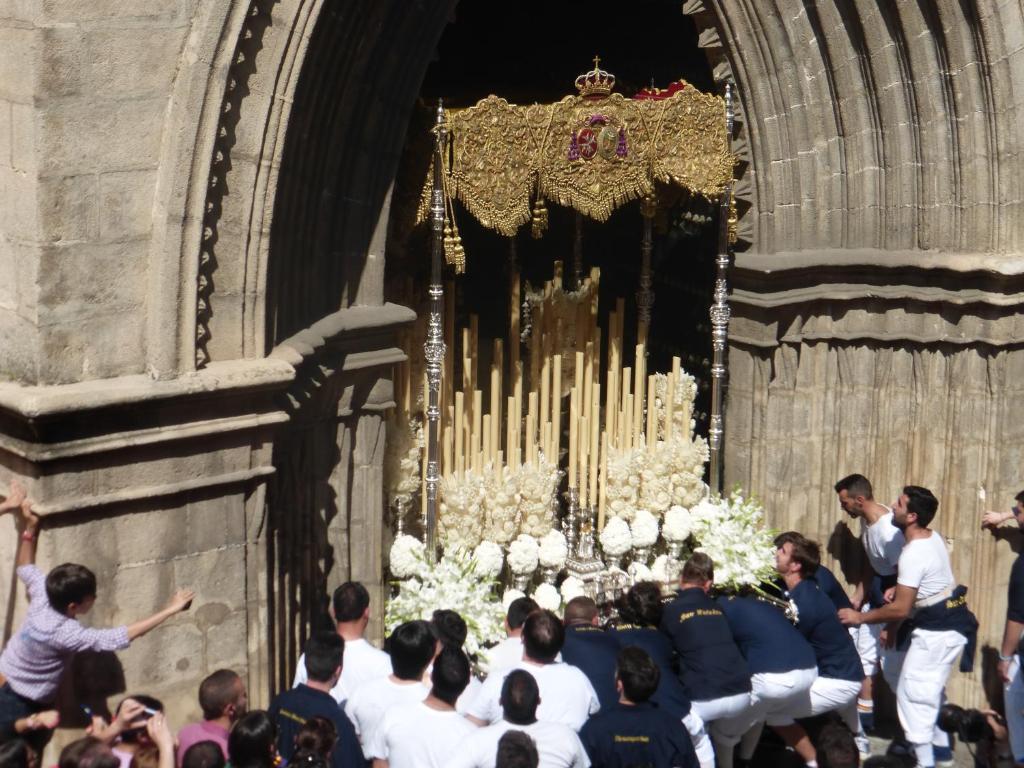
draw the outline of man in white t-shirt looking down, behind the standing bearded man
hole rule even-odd
[[[904,544],[903,531],[893,523],[892,510],[874,501],[871,483],[863,475],[847,475],[836,483],[835,489],[843,511],[860,520],[860,542],[867,556],[850,602],[854,608],[864,611],[882,607],[885,591],[896,584],[896,564]],[[872,680],[879,669],[879,657],[882,657],[883,674],[886,666],[898,666],[898,663],[887,665],[887,655],[894,651],[881,647],[881,634],[880,625],[862,624],[850,628],[850,636],[864,667],[864,683],[857,698],[862,730],[871,730],[874,725]],[[888,682],[891,688],[896,688],[895,678]],[[861,754],[869,751],[863,733],[857,734],[857,746]]]

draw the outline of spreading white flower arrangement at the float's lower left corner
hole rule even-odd
[[[385,628],[391,632],[404,622],[429,621],[438,608],[455,610],[466,621],[466,652],[476,654],[505,635],[505,609],[496,595],[496,586],[495,580],[476,572],[467,552],[446,552],[437,563],[425,563],[416,578],[398,585],[398,594],[387,604]]]

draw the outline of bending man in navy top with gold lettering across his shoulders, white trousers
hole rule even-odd
[[[662,631],[679,654],[679,680],[713,741],[712,723],[752,706],[750,668],[725,614],[708,596],[714,579],[715,563],[695,552],[683,565],[676,598],[662,613]]]

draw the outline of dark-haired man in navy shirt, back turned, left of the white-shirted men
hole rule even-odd
[[[278,726],[278,753],[286,761],[295,753],[295,737],[302,725],[313,717],[330,720],[338,732],[331,753],[333,768],[362,766],[355,729],[331,695],[341,677],[345,641],[330,631],[314,632],[305,646],[307,680],[291,690],[279,693],[267,714]]]

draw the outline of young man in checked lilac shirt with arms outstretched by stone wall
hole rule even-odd
[[[44,712],[53,710],[57,684],[65,665],[83,650],[122,650],[191,603],[196,593],[177,590],[167,605],[147,618],[110,630],[83,627],[84,615],[96,601],[96,577],[84,565],[65,563],[44,577],[36,567],[39,516],[32,511],[25,488],[11,480],[10,494],[0,503],[0,515],[16,510],[14,525],[18,532],[14,558],[17,578],[29,592],[29,611],[0,655],[0,738],[13,735],[18,721],[31,727],[18,735],[37,754],[50,740],[52,731],[43,727]]]

